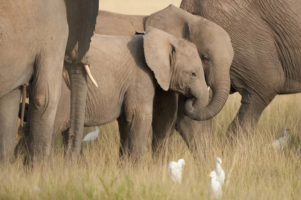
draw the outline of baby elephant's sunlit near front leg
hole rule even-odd
[[[145,153],[153,118],[153,99],[143,100],[143,97],[140,99],[140,102],[125,103],[125,120],[122,127],[126,130],[128,153],[134,162]]]

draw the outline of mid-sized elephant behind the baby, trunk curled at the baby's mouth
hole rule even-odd
[[[110,23],[107,23],[107,19]],[[193,15],[173,4],[146,15],[125,15],[99,11],[96,33],[134,34],[145,27],[153,26],[196,44],[202,59],[207,84],[212,88],[212,99],[204,108],[191,109],[184,96],[171,91],[156,89],[153,119],[153,150],[162,149],[168,143],[175,128],[185,139],[191,150],[201,155],[202,131],[211,130],[212,121],[225,104],[230,90],[229,68],[233,49],[227,32],[217,24]],[[179,106],[179,109],[178,109]],[[192,118],[192,119],[191,119]],[[196,120],[193,120],[196,119]]]

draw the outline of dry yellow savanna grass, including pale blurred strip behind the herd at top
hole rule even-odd
[[[102,9],[122,13],[130,13],[131,4],[135,4],[134,0],[104,2],[100,0]],[[147,5],[156,4],[156,7],[136,7],[132,13],[149,14],[171,2],[149,1]],[[179,5],[180,0],[172,3]],[[300,199],[301,94],[276,96],[264,110],[257,128],[250,131],[250,138],[242,138],[231,146],[225,131],[239,105],[240,95],[230,95],[215,117],[213,134],[207,138],[205,146],[207,154],[200,162],[195,162],[178,133],[173,138],[170,153],[163,159],[153,158],[149,145],[139,166],[120,161],[118,129],[112,122],[100,128],[96,141],[83,145],[83,153],[75,166],[65,163],[61,147],[55,150],[46,167],[36,166],[30,172],[23,167],[21,158],[0,166],[0,198],[207,199],[210,183],[207,174],[215,167],[215,157],[220,156],[226,172],[224,199]],[[291,129],[290,139],[284,150],[277,151],[269,144],[281,136],[281,127]],[[85,133],[92,130],[94,127],[86,128]],[[182,184],[174,185],[167,175],[167,165],[179,158],[186,160],[187,167]],[[37,186],[40,189],[36,189]]]

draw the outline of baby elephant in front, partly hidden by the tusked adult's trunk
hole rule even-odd
[[[190,41],[148,27],[144,35],[95,34],[90,52],[91,72],[99,87],[88,82],[84,125],[98,126],[117,119],[120,149],[126,147],[133,158],[143,156],[146,149],[157,86],[188,96],[192,106],[208,103],[202,61]],[[69,128],[68,77],[64,80],[54,134]]]

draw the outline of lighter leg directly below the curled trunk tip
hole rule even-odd
[[[211,95],[209,96],[209,101]],[[184,114],[186,97],[180,95],[176,129],[179,131],[195,159],[201,160],[206,153],[209,137],[212,133],[213,119],[197,121]],[[209,103],[209,102],[208,102]]]

